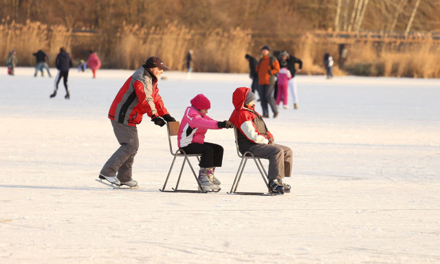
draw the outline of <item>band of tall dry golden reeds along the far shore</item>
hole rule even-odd
[[[72,54],[84,54],[98,45],[102,64],[118,69],[135,69],[149,56],[160,56],[173,70],[186,68],[186,53],[194,50],[196,72],[249,72],[244,56],[252,50],[252,34],[248,30],[233,28],[228,32],[212,30],[196,33],[177,23],[166,23],[163,28],[142,28],[139,25],[122,25],[117,33],[90,33],[87,42],[76,41],[77,36],[61,25],[47,26],[26,21],[17,24],[3,19],[0,24],[0,62],[12,49],[17,50],[20,66],[35,64],[32,53],[44,50],[54,65],[60,47]],[[77,44],[77,45],[74,45]],[[85,44],[86,43],[86,44]],[[338,45],[331,39],[314,34],[304,34],[292,42],[291,50],[303,60],[303,73],[324,74],[322,58],[329,52],[335,61],[333,74],[364,76],[397,76],[415,78],[440,78],[440,43],[438,41],[397,42],[353,41],[348,46],[349,56],[342,69],[338,67]],[[72,51],[74,48],[76,50]],[[82,49],[82,50],[79,50]],[[276,50],[276,48],[274,49]],[[78,55],[80,56],[80,55]]]

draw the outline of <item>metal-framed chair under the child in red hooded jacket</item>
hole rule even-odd
[[[234,127],[234,134],[235,134],[235,146],[236,146],[236,153],[241,157],[241,162],[239,169],[236,172],[234,183],[232,184],[231,191],[228,192],[230,195],[274,195],[272,194],[272,191],[270,190],[269,184],[267,183],[267,173],[264,169],[263,164],[261,163],[261,160],[259,157],[255,157],[254,154],[250,151],[246,151],[243,153],[243,155],[239,151],[239,142],[237,140],[238,138],[238,131],[237,128]],[[254,159],[254,162],[256,164],[256,168],[259,169],[261,177],[263,177],[263,181],[266,184],[267,191],[268,192],[237,192],[236,188],[239,186],[241,175],[243,175],[243,170],[245,169],[246,162],[248,162],[248,159]]]

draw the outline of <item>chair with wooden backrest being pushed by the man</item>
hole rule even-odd
[[[173,163],[171,163],[170,170],[168,171],[168,176],[166,176],[164,187],[159,190],[161,192],[203,192],[203,193],[206,193],[208,191],[203,191],[203,188],[201,187],[201,183],[200,183],[199,179],[197,178],[197,174],[195,173],[195,170],[194,170],[194,168],[192,168],[191,162],[188,159],[188,157],[197,157],[197,160],[200,162],[201,153],[199,153],[199,154],[186,154],[186,152],[181,148],[177,149],[177,151],[175,151],[175,152],[173,151],[173,144],[171,143],[171,137],[177,135],[177,133],[179,132],[179,126],[180,126],[180,122],[178,122],[178,121],[168,122],[168,124],[166,124],[166,130],[168,131],[168,142],[170,144],[170,153],[171,153],[171,155],[174,156],[174,158],[173,158]],[[177,157],[184,157],[184,162],[181,164],[181,168],[180,168],[179,178],[177,178],[177,184],[176,184],[175,188],[172,188],[173,190],[165,190],[166,183],[168,182],[168,178],[170,177],[171,170],[173,170],[174,162]],[[186,162],[188,162],[188,164],[192,170],[192,174],[194,175],[195,180],[197,181],[197,184],[199,185],[199,190],[178,189],[181,174],[184,171],[184,166],[185,166]]]

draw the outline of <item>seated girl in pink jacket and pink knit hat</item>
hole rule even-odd
[[[208,129],[229,129],[232,123],[228,120],[215,121],[206,115],[211,103],[203,94],[198,94],[190,102],[191,106],[186,108],[180,122],[178,145],[187,154],[201,153],[199,181],[203,191],[219,190],[221,182],[214,177],[214,169],[221,167],[223,147],[205,142],[205,133]]]

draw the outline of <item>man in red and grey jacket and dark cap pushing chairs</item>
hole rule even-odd
[[[175,121],[157,89],[157,80],[168,69],[161,58],[150,57],[122,85],[109,111],[113,131],[121,146],[104,164],[100,179],[107,179],[117,186],[139,187],[131,177],[131,166],[139,147],[136,124],[142,121],[144,113],[158,126]]]

